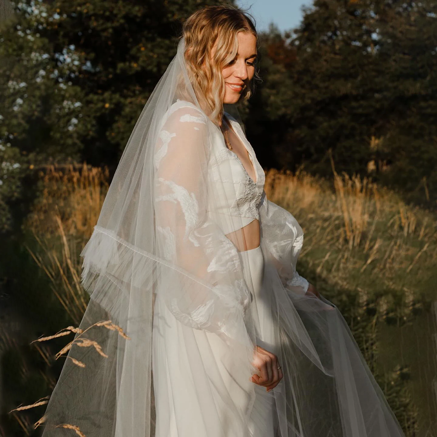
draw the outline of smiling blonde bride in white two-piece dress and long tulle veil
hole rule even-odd
[[[81,254],[90,302],[43,436],[403,436],[266,198],[233,107],[256,74],[242,10],[184,22]]]

